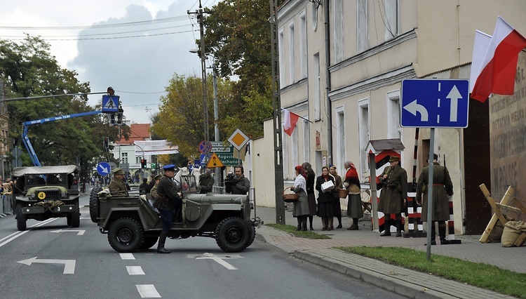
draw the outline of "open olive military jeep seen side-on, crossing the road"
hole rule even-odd
[[[198,194],[194,176],[182,175],[181,211],[174,215],[170,239],[211,237],[225,252],[241,252],[255,239],[259,218],[250,219],[248,195]],[[161,216],[144,195],[122,197],[94,188],[90,194],[90,217],[109,245],[118,252],[148,249],[161,234]],[[177,212],[176,212],[177,213]],[[180,218],[180,219],[177,219]]]

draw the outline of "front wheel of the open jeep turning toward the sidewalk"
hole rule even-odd
[[[247,248],[250,239],[250,227],[238,217],[222,220],[215,229],[215,241],[224,252],[241,252]]]

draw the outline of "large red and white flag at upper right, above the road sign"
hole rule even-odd
[[[481,56],[484,58],[480,65],[471,65],[471,98],[485,102],[492,93],[513,95],[518,55],[526,48],[526,39],[501,17],[497,18],[497,26],[489,43],[487,38],[480,36],[482,32],[477,35],[479,44],[476,38],[473,60],[477,63]]]

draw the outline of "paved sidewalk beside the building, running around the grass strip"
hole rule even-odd
[[[261,218],[265,224],[276,223],[274,208],[256,206],[255,213],[252,211],[252,216],[254,215]],[[335,246],[399,246],[426,251],[426,246],[424,246],[426,238],[397,238],[394,235],[380,237],[379,233],[372,232],[370,221],[360,222],[358,231],[346,230],[351,221],[351,218],[344,217],[342,219],[344,228],[323,232],[321,231],[321,219],[314,216],[314,232],[326,234],[331,238],[324,240],[292,237],[286,232],[267,225],[262,225],[256,232],[259,239],[291,253],[295,258],[367,281],[367,283],[407,298],[513,298],[483,288],[332,249]],[[285,223],[297,225],[292,212],[285,211]],[[526,273],[526,259],[524,258],[526,246],[504,248],[501,244],[482,244],[478,241],[480,236],[455,237],[461,240],[461,244],[431,246],[431,255],[446,255]]]

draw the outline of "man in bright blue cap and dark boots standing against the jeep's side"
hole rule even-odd
[[[157,253],[170,253],[172,251],[164,248],[166,237],[172,227],[173,211],[178,211],[182,206],[182,199],[175,190],[172,178],[175,175],[175,165],[170,164],[163,166],[164,175],[157,186],[157,197],[154,201],[154,206],[159,209],[161,213],[161,220],[163,221],[163,228],[159,236],[159,243],[157,244]]]

